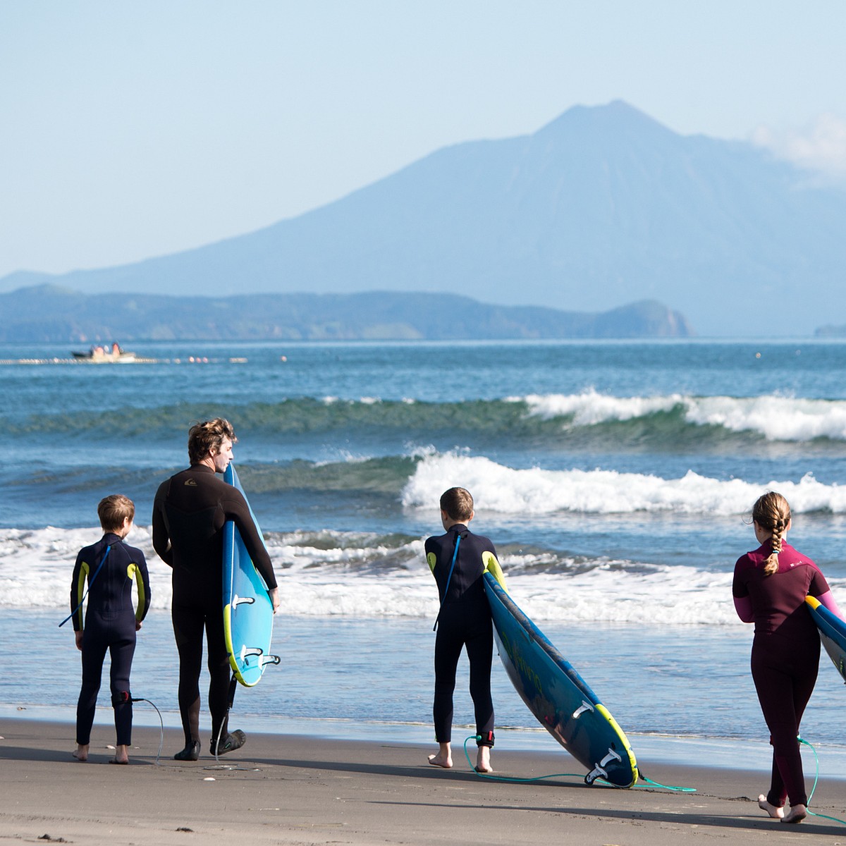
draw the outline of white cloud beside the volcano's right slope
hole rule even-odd
[[[759,127],[752,134],[752,142],[800,168],[846,179],[846,120],[833,114],[820,115],[801,131],[775,132]]]

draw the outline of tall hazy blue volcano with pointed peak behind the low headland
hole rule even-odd
[[[624,102],[470,141],[255,233],[52,277],[86,293],[459,293],[604,312],[640,299],[701,334],[810,334],[846,312],[846,192]],[[846,314],[843,315],[846,319]]]

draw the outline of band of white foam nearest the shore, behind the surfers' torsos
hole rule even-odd
[[[80,546],[96,530],[0,530],[0,608],[54,608],[69,613],[70,576]],[[170,569],[152,552],[150,531],[130,536],[146,553],[152,609],[170,607]],[[434,621],[437,589],[423,540],[400,545],[349,532],[271,535],[267,538],[284,615],[411,617]],[[578,562],[553,553],[504,555],[508,589],[537,622],[666,625],[736,624],[731,574],[690,566],[596,559]],[[554,563],[556,572],[534,572]],[[832,589],[843,585],[831,581]],[[846,580],[844,580],[846,585]]]

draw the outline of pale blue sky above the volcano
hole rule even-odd
[[[166,255],[622,99],[846,179],[846,3],[0,0],[0,277]]]

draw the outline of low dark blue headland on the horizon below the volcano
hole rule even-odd
[[[80,294],[42,285],[0,294],[0,341],[483,340],[687,338],[684,316],[655,302],[603,314],[485,305],[437,294]]]

